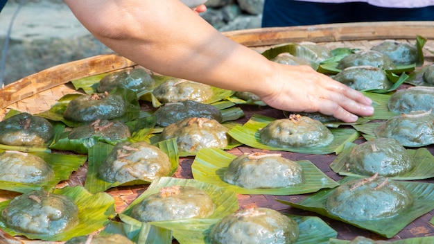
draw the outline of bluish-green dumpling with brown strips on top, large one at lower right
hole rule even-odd
[[[327,198],[326,209],[345,219],[379,220],[413,205],[413,195],[399,182],[378,174],[341,184]]]

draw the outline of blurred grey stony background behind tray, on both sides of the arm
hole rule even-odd
[[[222,32],[260,28],[263,1],[208,0],[201,16]],[[56,64],[112,53],[63,0],[9,0],[0,12],[0,49],[5,85]]]

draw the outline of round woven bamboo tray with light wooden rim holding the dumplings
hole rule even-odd
[[[369,49],[370,47],[383,42],[384,40],[398,40],[401,42],[415,42],[416,35],[422,35],[428,39],[424,46],[425,65],[434,62],[434,21],[403,21],[403,22],[371,22],[371,23],[347,23],[347,24],[324,24],[317,26],[296,26],[287,28],[261,28],[252,30],[236,30],[224,33],[232,40],[249,46],[257,51],[263,51],[275,44],[286,42],[316,42],[326,45],[330,49],[337,47],[356,47]],[[36,114],[49,108],[56,103],[58,98],[65,94],[80,93],[73,89],[70,80],[94,76],[108,71],[116,71],[133,67],[134,62],[116,54],[98,55],[84,60],[68,62],[51,67],[39,73],[17,80],[3,89],[0,89],[0,120],[11,109],[21,112]],[[283,118],[281,111],[271,107],[258,107],[253,105],[240,105],[245,112],[245,117],[238,120],[240,123],[248,121],[252,114],[263,114],[276,119]],[[144,105],[144,110],[153,109],[150,105]],[[357,142],[362,142],[358,139]],[[434,146],[427,146],[434,155]],[[241,155],[263,151],[248,146],[240,146],[229,150],[229,153]],[[279,152],[282,156],[291,160],[310,160],[321,171],[333,180],[340,180],[341,177],[331,171],[329,164],[336,158],[336,155],[306,155],[302,153]],[[180,159],[180,167],[175,177],[191,179],[191,164],[193,157]],[[70,179],[61,182],[65,185],[84,185],[87,173],[87,166],[83,166],[74,172]],[[434,183],[432,179],[421,182]],[[116,213],[125,209],[138,195],[146,190],[146,185],[121,186],[110,189],[107,193],[113,196],[116,202]],[[19,195],[9,191],[0,191],[0,201],[7,200]],[[284,214],[297,214],[318,216],[311,212],[302,211],[281,204],[276,199],[290,200],[297,202],[305,195],[275,196],[275,195],[238,195],[238,202],[241,208],[269,207],[281,211]],[[413,238],[420,236],[434,236],[434,227],[429,223],[434,216],[434,211],[418,218],[410,223],[390,240]],[[320,216],[321,217],[321,216]],[[367,236],[375,239],[384,239],[372,232],[358,229],[357,227],[341,223],[337,220],[321,217],[327,224],[338,232],[338,238],[351,240],[356,236]],[[0,230],[0,243],[1,239]],[[29,241],[25,238],[17,238],[23,243],[46,243],[40,241]]]

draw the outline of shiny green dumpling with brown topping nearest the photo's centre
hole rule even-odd
[[[247,189],[271,189],[302,184],[304,179],[302,166],[281,154],[251,153],[232,160],[223,180]]]

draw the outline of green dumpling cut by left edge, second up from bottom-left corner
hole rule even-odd
[[[30,153],[7,150],[0,154],[0,180],[40,184],[48,182],[54,171],[44,159]]]

